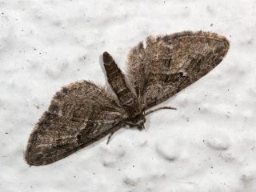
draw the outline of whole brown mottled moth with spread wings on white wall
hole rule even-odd
[[[128,55],[128,74],[107,52],[103,63],[111,90],[93,82],[74,82],[58,91],[28,141],[31,166],[56,162],[110,136],[122,126],[144,129],[150,107],[166,101],[213,70],[229,50],[229,41],[210,32],[150,36]],[[160,107],[160,109],[175,109]]]

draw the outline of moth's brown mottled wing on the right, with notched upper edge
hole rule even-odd
[[[228,40],[210,32],[148,37],[128,56],[129,78],[146,109],[165,101],[214,69],[229,50]]]

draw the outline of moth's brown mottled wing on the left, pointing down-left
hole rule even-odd
[[[114,96],[91,82],[76,82],[55,94],[30,135],[25,158],[42,166],[58,161],[117,130],[126,112]]]

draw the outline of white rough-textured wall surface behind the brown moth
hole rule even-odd
[[[0,191],[256,191],[256,1],[0,2]],[[223,62],[147,117],[49,166],[23,159],[34,124],[63,85],[106,84],[102,52],[122,70],[150,34],[209,30]]]

